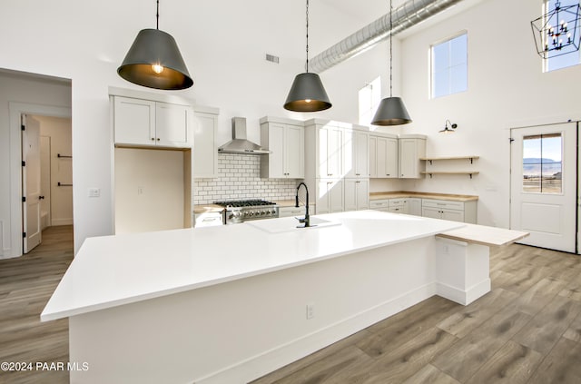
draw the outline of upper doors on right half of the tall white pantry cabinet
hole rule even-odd
[[[345,177],[369,178],[369,132],[344,131]]]

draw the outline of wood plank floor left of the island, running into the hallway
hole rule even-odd
[[[67,370],[36,370],[36,362],[69,360],[67,319],[40,322],[40,313],[73,261],[73,226],[49,227],[30,253],[0,260],[0,363],[33,363],[34,369],[0,369],[0,383],[68,383]],[[50,366],[48,367],[50,368]]]

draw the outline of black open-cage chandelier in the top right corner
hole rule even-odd
[[[561,6],[561,2],[556,1],[555,8],[550,11],[548,1],[546,6],[547,13],[530,22],[537,54],[548,59],[578,51],[581,43],[579,3]]]

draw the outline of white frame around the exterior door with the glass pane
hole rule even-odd
[[[566,123],[575,123],[575,130],[576,130],[576,195],[575,195],[575,251],[574,253],[576,254],[581,254],[581,243],[580,243],[580,234],[579,234],[579,229],[581,228],[581,214],[580,214],[580,210],[581,210],[581,198],[580,198],[580,190],[581,190],[581,180],[579,179],[579,173],[581,172],[581,158],[580,158],[580,148],[579,148],[579,142],[581,141],[581,137],[579,137],[579,128],[581,125],[581,119],[575,119],[575,120],[571,120],[571,119],[567,119],[566,121],[557,121],[557,122],[537,122],[537,123],[530,123],[528,125],[522,125],[519,124],[518,126],[511,126],[508,128],[508,140],[510,141],[511,145],[509,146],[509,156],[508,156],[508,162],[509,162],[509,169],[510,172],[508,173],[508,183],[509,183],[509,188],[508,188],[508,227],[512,228],[512,222],[513,222],[513,217],[512,217],[512,152],[513,152],[513,147],[512,147],[512,130],[514,129],[521,129],[521,128],[537,128],[537,127],[543,127],[543,126],[547,126],[547,125],[558,125],[558,124],[566,124]]]

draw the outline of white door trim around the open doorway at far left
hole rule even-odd
[[[10,248],[3,250],[4,258],[22,256],[22,114],[63,117],[71,119],[72,109],[67,107],[42,105],[34,103],[8,103],[10,117]],[[72,126],[71,126],[72,129]],[[0,233],[1,235],[1,233]]]

